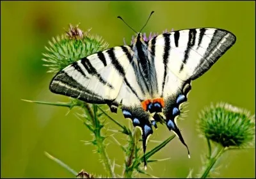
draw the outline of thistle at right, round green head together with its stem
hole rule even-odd
[[[216,161],[227,150],[250,148],[255,144],[255,116],[227,103],[205,108],[200,113],[198,130],[209,147],[201,178],[209,176]],[[216,144],[215,153],[212,153],[211,141]]]

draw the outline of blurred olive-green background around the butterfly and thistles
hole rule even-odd
[[[229,102],[255,113],[255,2],[253,1],[1,1],[1,178],[3,177],[74,177],[48,159],[47,151],[76,171],[105,175],[99,155],[90,140],[90,132],[74,114],[79,109],[23,102],[20,99],[67,102],[68,97],[49,91],[53,74],[42,66],[44,46],[52,36],[64,33],[68,24],[81,23],[84,31],[102,36],[109,47],[130,41],[134,33],[121,20],[140,29],[149,13],[156,13],[143,31],[161,33],[164,29],[219,27],[237,36],[237,42],[211,70],[193,82],[189,93],[188,117],[179,121],[191,152],[175,137],[154,159],[170,160],[150,164],[155,176],[186,177],[189,169],[200,170],[201,156],[207,152],[204,139],[198,137],[198,112],[211,102]],[[67,115],[66,115],[67,114]],[[120,111],[120,123],[129,123]],[[109,121],[109,128],[116,126]],[[117,128],[116,128],[117,129]],[[165,126],[154,130],[150,139],[163,141],[172,133]],[[108,134],[111,134],[108,132]],[[118,136],[119,135],[119,136]],[[124,136],[116,135],[125,144]],[[109,138],[109,157],[124,164],[124,154]],[[156,146],[149,143],[148,150]],[[255,150],[225,153],[216,177],[255,178]],[[122,167],[116,167],[121,173]],[[140,175],[141,177],[143,175]]]

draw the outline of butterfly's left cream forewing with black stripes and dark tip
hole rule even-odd
[[[85,102],[108,104],[117,97],[124,80],[122,70],[127,66],[129,60],[122,47],[114,47],[67,66],[54,76],[50,89]]]

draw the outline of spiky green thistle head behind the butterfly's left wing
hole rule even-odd
[[[47,62],[44,66],[49,66],[52,73],[59,72],[71,63],[107,49],[108,43],[104,42],[100,36],[89,34],[90,29],[84,33],[77,26],[70,24],[65,35],[57,36],[49,41],[49,47],[43,54],[43,61]]]

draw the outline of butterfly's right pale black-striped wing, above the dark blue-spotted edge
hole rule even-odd
[[[232,33],[214,28],[173,31],[150,40],[148,51],[155,58],[159,95],[171,95],[185,81],[200,77],[235,42]]]

